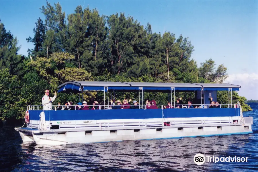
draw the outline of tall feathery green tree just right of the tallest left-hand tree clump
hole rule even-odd
[[[105,17],[96,9],[81,6],[68,15],[67,50],[75,55],[77,66],[94,74],[102,73],[106,65],[107,27]]]

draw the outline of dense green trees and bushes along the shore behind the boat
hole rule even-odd
[[[135,81],[178,83],[222,83],[227,78],[226,67],[215,69],[212,59],[198,68],[191,58],[194,47],[188,37],[165,32],[152,33],[124,13],[99,15],[97,9],[78,6],[66,15],[59,3],[40,9],[44,21],[38,18],[34,43],[28,56],[21,56],[18,41],[5,30],[0,20],[0,118],[22,118],[26,105],[40,105],[45,89],[52,93],[66,81]],[[102,101],[103,93],[85,92],[83,97]],[[177,97],[193,97],[193,93],[177,93]],[[219,93],[224,102],[227,93]],[[116,93],[116,99],[135,98],[136,93]],[[157,103],[169,101],[167,93],[146,93]],[[245,98],[234,92],[234,101],[244,104]],[[58,94],[54,104],[78,102],[78,95]],[[171,100],[170,100],[171,101]],[[244,106],[249,110],[248,106]]]

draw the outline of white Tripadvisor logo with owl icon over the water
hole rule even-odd
[[[248,157],[214,157],[214,156],[207,156],[207,162],[213,162],[213,163],[218,163],[218,162],[247,162]],[[193,162],[196,163],[197,165],[202,165],[205,162],[205,157],[203,154],[198,153],[193,157]]]

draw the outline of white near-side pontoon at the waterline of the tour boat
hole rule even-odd
[[[123,140],[145,140],[145,139],[166,139],[195,136],[214,136],[230,134],[252,133],[251,125],[235,126],[206,126],[206,127],[185,127],[185,128],[156,128],[140,130],[99,130],[87,133],[86,131],[67,131],[58,134],[33,134],[37,144],[61,145],[74,143],[111,142]]]

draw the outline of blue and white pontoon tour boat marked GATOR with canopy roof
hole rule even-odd
[[[28,106],[27,126],[15,130],[24,142],[48,145],[248,134],[253,117],[243,117],[241,105],[232,104],[232,91],[239,88],[232,84],[71,81],[59,85],[58,93],[102,91],[103,105],[96,110]],[[112,109],[111,91],[138,92],[138,108]],[[175,108],[175,92],[188,91],[195,94],[198,108]],[[228,104],[208,108],[210,97],[217,100],[217,91],[228,91]],[[147,109],[144,92],[168,93],[172,108]]]

